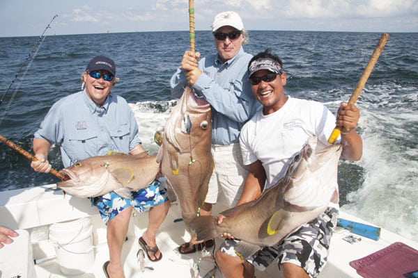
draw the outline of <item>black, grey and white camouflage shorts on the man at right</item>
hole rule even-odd
[[[327,262],[337,218],[338,209],[328,207],[318,218],[302,225],[278,245],[263,247],[246,260],[263,271],[278,258],[279,268],[281,263],[293,263],[304,268],[310,277],[317,277]],[[220,250],[231,256],[238,256],[234,249],[237,243],[237,240],[225,240]]]

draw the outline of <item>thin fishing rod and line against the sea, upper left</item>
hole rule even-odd
[[[54,15],[54,17],[52,17],[51,21],[49,22],[49,24],[47,25],[47,27],[45,28],[45,30],[42,32],[42,34],[39,36],[38,40],[36,41],[35,44],[33,44],[33,47],[31,49],[31,51],[29,51],[28,56],[26,57],[26,60],[24,60],[24,62],[22,63],[22,65],[20,66],[20,69],[17,71],[17,73],[15,74],[15,78],[13,79],[13,81],[10,83],[10,85],[8,86],[6,92],[3,94],[3,96],[0,99],[0,111],[1,111],[1,105],[3,104],[3,100],[6,99],[6,96],[8,95],[9,90],[12,88],[12,86],[15,84],[17,84],[17,87],[15,88],[15,90],[13,91],[13,95],[12,97],[10,97],[10,100],[8,101],[8,105],[6,107],[6,109],[4,109],[4,112],[2,113],[1,117],[0,117],[0,125],[3,122],[3,118],[6,116],[7,111],[9,110],[13,100],[15,99],[17,92],[20,89],[20,86],[22,85],[22,82],[24,80],[24,76],[26,75],[26,72],[28,72],[29,67],[31,66],[31,63],[33,62],[33,59],[35,59],[36,54],[38,54],[38,51],[40,49],[40,45],[42,44],[42,42],[45,40],[45,32],[47,31],[48,28],[51,28],[51,24],[54,21],[54,19],[58,17],[58,15]],[[21,72],[23,71],[22,75]]]

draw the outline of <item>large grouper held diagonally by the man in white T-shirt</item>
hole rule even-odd
[[[330,201],[338,203],[337,167],[342,147],[319,145],[316,137],[309,138],[274,186],[254,201],[222,211],[226,218],[220,224],[210,215],[192,220],[190,228],[197,240],[229,233],[241,240],[240,253],[249,255],[279,243],[300,225],[314,220]]]

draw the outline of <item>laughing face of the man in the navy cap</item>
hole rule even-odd
[[[103,79],[103,74],[110,74],[107,70],[98,70],[97,72],[102,74],[98,79],[91,77],[88,72],[84,72],[83,76],[84,82],[86,82],[87,96],[93,100],[95,104],[102,106],[115,83],[115,79],[112,81],[105,81]]]

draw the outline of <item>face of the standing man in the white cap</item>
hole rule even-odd
[[[237,31],[237,29],[231,26],[223,26],[217,29],[216,32],[232,33],[234,31]],[[225,63],[227,60],[233,58],[235,55],[238,54],[245,38],[244,35],[241,33],[241,35],[235,40],[231,40],[229,37],[226,37],[225,40],[217,40],[216,38],[213,38],[213,40],[215,40],[217,53],[219,54],[222,63]]]

